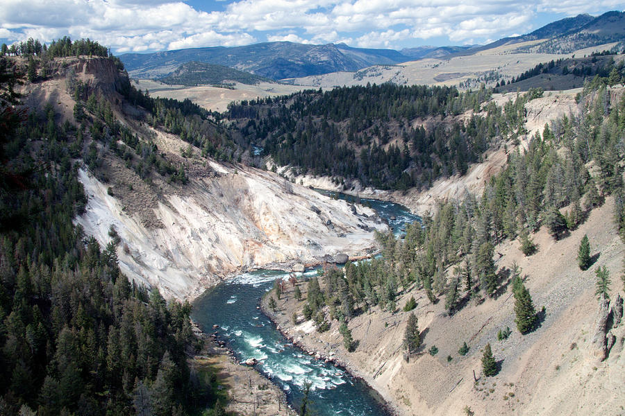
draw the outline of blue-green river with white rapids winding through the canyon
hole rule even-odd
[[[351,198],[339,194],[340,198]],[[408,223],[419,219],[401,205],[361,198],[401,233]],[[304,275],[315,275],[307,270]],[[294,408],[299,408],[302,387],[312,383],[309,399],[313,415],[387,415],[377,392],[329,363],[316,360],[292,345],[257,306],[260,297],[273,286],[274,279],[288,278],[276,270],[256,270],[208,289],[193,305],[192,318],[204,330],[219,325],[219,336],[226,340],[240,361],[256,358],[256,368],[285,392]]]

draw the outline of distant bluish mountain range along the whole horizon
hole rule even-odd
[[[483,46],[419,46],[396,51],[354,48],[346,44],[265,42],[235,47],[213,46],[156,53],[127,53],[119,58],[134,78],[162,79],[177,71],[186,62],[205,62],[281,80],[358,71],[373,65],[401,64],[425,58],[447,59],[474,55],[510,44],[519,44],[517,53],[570,53],[577,49],[623,40],[625,12],[612,11],[599,17],[568,17],[526,35],[505,37]]]

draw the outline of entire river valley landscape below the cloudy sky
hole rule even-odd
[[[0,413],[621,415],[624,16],[3,49]]]

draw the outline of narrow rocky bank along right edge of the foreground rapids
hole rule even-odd
[[[287,338],[293,345],[301,349],[303,352],[306,352],[306,354],[319,361],[333,363],[336,367],[340,368],[344,372],[347,372],[353,379],[365,383],[370,389],[372,389],[373,392],[376,393],[378,396],[376,401],[378,401],[381,408],[384,409],[387,415],[400,415],[401,412],[399,407],[394,404],[392,397],[388,395],[385,388],[376,383],[376,381],[370,376],[361,372],[356,365],[353,365],[353,363],[349,361],[349,358],[344,354],[347,353],[347,351],[342,351],[344,350],[343,347],[340,349],[338,348],[339,345],[341,345],[340,343],[328,343],[317,338],[314,335],[315,327],[312,325],[312,321],[303,322],[301,325],[296,327],[293,326],[292,318],[288,317],[292,317],[292,313],[297,313],[298,307],[299,311],[301,311],[301,307],[303,307],[303,304],[305,303],[304,300],[306,299],[306,284],[304,281],[297,281],[297,286],[299,286],[302,293],[301,302],[297,302],[294,298],[295,286],[292,284],[287,284],[287,286],[288,288],[285,288],[285,291],[283,291],[281,299],[277,301],[278,309],[276,309],[275,313],[269,307],[269,297],[274,296],[275,299],[275,291],[267,292],[266,295],[261,298],[259,306],[260,311],[262,311],[263,314],[265,314],[265,316],[273,322],[276,329],[280,331],[285,338]],[[290,303],[289,300],[291,301]],[[289,313],[287,313],[287,311]],[[303,316],[299,316],[299,320],[303,320]],[[307,323],[310,323],[310,325],[307,325]],[[299,331],[297,327],[301,327],[302,325],[306,326],[306,330]]]

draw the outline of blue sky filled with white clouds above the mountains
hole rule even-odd
[[[0,43],[89,37],[115,54],[291,41],[398,49],[485,44],[625,0],[2,0]]]

